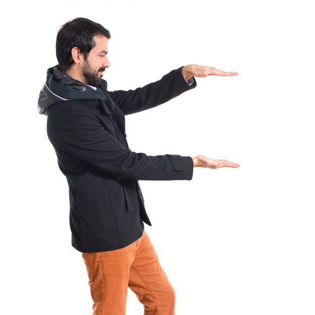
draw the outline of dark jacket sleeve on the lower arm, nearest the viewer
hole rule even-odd
[[[133,180],[191,180],[193,160],[174,154],[148,156],[126,149],[93,113],[68,112],[59,125],[65,149],[109,174]]]

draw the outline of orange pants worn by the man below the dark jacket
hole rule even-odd
[[[174,315],[175,292],[146,232],[118,250],[83,253],[93,315],[124,315],[127,287],[144,305],[144,315]]]

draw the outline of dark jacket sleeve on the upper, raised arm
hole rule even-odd
[[[129,91],[118,90],[108,92],[108,94],[125,115],[153,108],[196,87],[195,78],[192,85],[187,84],[182,68],[173,70],[164,75],[161,80],[142,88]]]

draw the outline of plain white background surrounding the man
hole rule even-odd
[[[133,151],[239,169],[141,182],[178,315],[315,314],[311,1],[12,1],[1,13],[1,314],[91,314],[68,188],[37,111],[55,38],[86,17],[112,34],[109,90],[189,63],[239,71],[126,117]],[[7,8],[7,9],[6,9]],[[131,291],[127,314],[143,313]]]

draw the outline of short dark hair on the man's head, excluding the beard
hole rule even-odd
[[[66,71],[72,64],[71,50],[77,47],[84,54],[85,59],[95,47],[94,36],[111,38],[109,30],[101,24],[85,18],[76,18],[63,24],[57,33],[56,56],[61,71]]]

